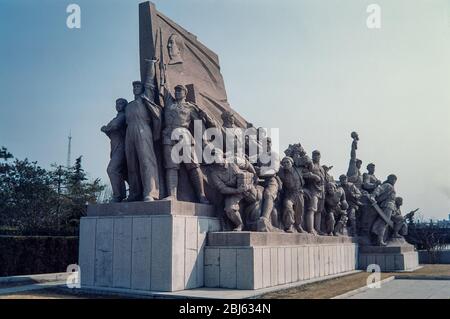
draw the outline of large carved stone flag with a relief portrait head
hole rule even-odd
[[[222,123],[221,115],[232,109],[227,101],[218,55],[194,34],[156,10],[151,2],[139,5],[139,21],[142,79],[145,78],[145,61],[158,58],[158,85],[163,78],[161,74],[165,73],[170,90],[173,91],[174,86],[179,84],[187,86],[187,100],[206,109],[216,121]],[[246,128],[247,121],[237,112],[233,113],[235,124]]]

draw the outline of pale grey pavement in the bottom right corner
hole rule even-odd
[[[450,280],[395,279],[349,299],[450,299]]]

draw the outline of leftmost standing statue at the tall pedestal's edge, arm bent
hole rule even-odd
[[[117,115],[101,131],[111,140],[111,153],[108,168],[109,180],[113,191],[112,202],[121,202],[126,198],[125,180],[127,179],[127,161],[125,157],[126,119],[125,108],[128,101],[116,100]]]

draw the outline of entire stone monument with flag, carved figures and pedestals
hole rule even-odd
[[[318,150],[310,158],[300,143],[280,159],[265,130],[231,109],[218,56],[195,35],[151,2],[139,5],[139,35],[134,99],[118,99],[118,115],[102,127],[113,198],[89,205],[80,223],[83,287],[260,289],[373,262],[389,271],[417,266],[402,237],[396,176],[381,183],[373,164],[361,175],[356,132],[339,181]],[[203,132],[211,128],[253,135],[221,136],[244,151],[214,148],[207,163],[212,141]]]

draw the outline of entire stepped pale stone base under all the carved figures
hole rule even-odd
[[[406,243],[378,247],[347,236],[222,232],[214,206],[172,200],[90,205],[80,224],[83,288],[257,290],[370,264],[412,270],[417,260]]]

